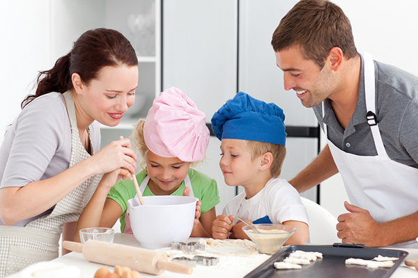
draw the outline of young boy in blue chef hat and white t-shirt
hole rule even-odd
[[[213,238],[247,238],[237,216],[254,224],[273,223],[295,227],[286,245],[300,245],[309,238],[307,210],[290,183],[279,179],[286,156],[284,113],[245,92],[219,108],[212,129],[221,143],[225,183],[243,186],[212,224]],[[236,219],[235,219],[236,218]]]

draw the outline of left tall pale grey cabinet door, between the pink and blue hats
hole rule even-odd
[[[183,90],[206,122],[237,90],[238,1],[162,1],[162,87]],[[219,169],[220,141],[210,137],[206,161],[195,167],[217,180],[221,203],[236,193]]]

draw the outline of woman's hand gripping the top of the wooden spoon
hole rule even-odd
[[[137,170],[137,154],[127,138],[110,142],[88,159],[95,174],[111,172],[118,168],[125,168],[131,173]]]

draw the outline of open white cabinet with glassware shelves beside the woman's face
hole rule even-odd
[[[132,43],[137,56],[139,79],[135,102],[118,126],[101,126],[102,147],[119,136],[127,138],[132,126],[145,118],[161,91],[161,1],[107,0],[104,19],[107,28],[121,31]]]

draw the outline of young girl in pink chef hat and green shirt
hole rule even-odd
[[[216,218],[215,205],[219,203],[217,183],[189,168],[203,160],[208,147],[209,130],[204,113],[183,92],[169,88],[154,100],[146,120],[139,120],[132,136],[143,158],[141,166],[145,165],[136,175],[142,195],[197,197],[200,202],[191,236],[210,237]],[[121,232],[132,234],[127,200],[135,197],[136,190],[133,181],[118,181],[120,177],[116,171],[104,174],[79,218],[77,231],[86,227],[113,227],[119,218]],[[75,240],[79,241],[78,233]]]

